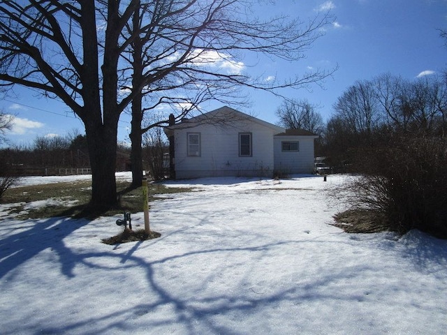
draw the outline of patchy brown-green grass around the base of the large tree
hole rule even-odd
[[[163,184],[149,184],[150,202],[157,195],[189,192],[191,188],[171,188]],[[1,203],[10,204],[10,214],[15,218],[48,218],[54,216],[89,217],[113,216],[124,211],[137,213],[143,210],[142,188],[131,188],[130,181],[117,181],[119,205],[114,208],[92,210],[88,204],[91,198],[91,181],[60,182],[52,184],[21,186],[8,188],[3,194]],[[160,197],[158,198],[160,199]],[[39,204],[38,202],[45,204]],[[34,204],[36,204],[34,206]]]

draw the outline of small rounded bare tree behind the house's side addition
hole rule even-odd
[[[306,99],[284,100],[277,109],[279,123],[284,128],[305,129],[321,135],[324,124],[321,114],[316,112],[316,105],[312,105]]]

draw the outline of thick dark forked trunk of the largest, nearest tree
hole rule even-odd
[[[91,167],[90,206],[96,210],[117,205],[115,165],[117,158],[117,7],[108,6],[108,27],[103,70],[103,106],[98,77],[98,42],[96,38],[96,6],[94,1],[82,3],[82,98],[84,106],[76,110],[85,124],[85,135]]]

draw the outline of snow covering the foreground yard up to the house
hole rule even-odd
[[[119,246],[118,216],[2,218],[0,333],[445,334],[447,241],[333,227],[341,179],[167,182],[197,191]]]

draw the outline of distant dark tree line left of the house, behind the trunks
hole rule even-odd
[[[131,168],[131,149],[117,145],[117,170]],[[142,141],[142,166],[149,178],[165,179],[168,171],[168,142],[162,128],[154,127]],[[64,137],[39,136],[29,145],[0,149],[0,178],[4,176],[58,175],[90,172],[87,137],[77,131]]]

